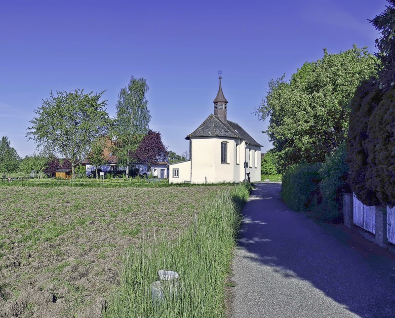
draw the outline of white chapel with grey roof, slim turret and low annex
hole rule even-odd
[[[227,104],[221,87],[214,115],[205,119],[185,139],[191,159],[169,164],[170,183],[251,182],[261,180],[261,145],[236,122],[227,119]]]

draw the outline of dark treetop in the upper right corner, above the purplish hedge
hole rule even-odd
[[[391,89],[395,84],[395,0],[387,0],[390,6],[383,13],[377,15],[370,23],[381,33],[376,39],[382,68],[379,71],[380,86],[384,90]]]

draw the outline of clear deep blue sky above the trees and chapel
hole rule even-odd
[[[218,71],[228,119],[264,148],[267,121],[253,114],[271,79],[286,79],[306,61],[368,46],[377,31],[367,21],[386,0],[0,2],[0,137],[21,157],[36,150],[25,137],[34,110],[50,90],[106,90],[115,116],[119,90],[131,76],[150,87],[150,127],[168,150],[213,112]]]

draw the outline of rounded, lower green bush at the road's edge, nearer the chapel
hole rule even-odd
[[[281,197],[293,210],[307,211],[319,198],[321,163],[300,163],[291,166],[282,177]]]

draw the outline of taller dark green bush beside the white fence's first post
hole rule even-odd
[[[319,170],[320,199],[312,208],[317,219],[324,222],[340,223],[343,220],[343,193],[350,193],[347,183],[349,166],[346,163],[347,152],[345,143],[328,157]]]

